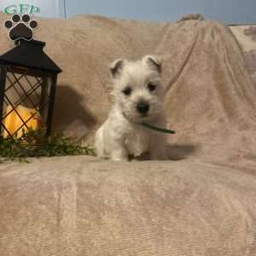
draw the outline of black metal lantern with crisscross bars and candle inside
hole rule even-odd
[[[44,53],[44,42],[20,39],[15,45],[0,56],[0,135],[20,137],[44,125],[49,136],[61,69]]]

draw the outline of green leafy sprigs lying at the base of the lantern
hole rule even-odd
[[[44,130],[23,132],[20,138],[0,137],[0,161],[20,160],[27,162],[28,157],[63,156],[63,155],[95,155],[92,148],[82,147],[71,138],[55,135],[45,137]]]

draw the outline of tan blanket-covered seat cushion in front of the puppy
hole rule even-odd
[[[0,254],[253,256],[247,165],[79,156],[0,166]]]

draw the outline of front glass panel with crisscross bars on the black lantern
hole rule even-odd
[[[20,137],[28,129],[47,122],[50,79],[16,67],[8,67],[3,97],[2,136]]]

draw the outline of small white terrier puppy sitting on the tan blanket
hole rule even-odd
[[[152,160],[167,160],[165,134],[142,125],[166,126],[161,62],[151,55],[138,61],[119,59],[113,61],[110,71],[114,103],[108,119],[96,131],[96,154],[129,160],[149,153]]]

